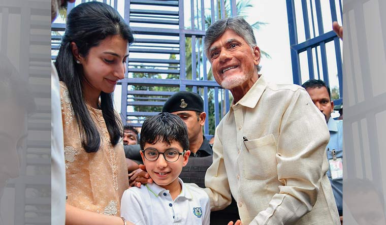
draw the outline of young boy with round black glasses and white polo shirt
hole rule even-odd
[[[154,182],[124,191],[121,216],[136,225],[209,224],[206,192],[178,178],[190,154],[187,128],[180,117],[164,112],[146,119],[140,146]]]

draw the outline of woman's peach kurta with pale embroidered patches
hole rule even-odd
[[[87,211],[120,215],[120,199],[128,187],[127,167],[122,143],[114,146],[102,110],[88,107],[101,135],[101,147],[87,153],[81,144],[68,90],[60,82],[60,103],[66,159],[67,203]],[[113,170],[112,168],[116,168]]]

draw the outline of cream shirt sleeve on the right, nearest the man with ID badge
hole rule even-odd
[[[293,224],[313,208],[328,170],[329,131],[304,89],[289,95],[277,140],[277,173],[283,183],[268,208],[250,224]]]

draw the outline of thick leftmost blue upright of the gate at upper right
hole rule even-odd
[[[288,17],[288,32],[289,32],[289,44],[291,45],[291,61],[292,61],[292,76],[295,84],[300,84],[302,77],[300,74],[300,61],[299,54],[292,48],[298,44],[298,35],[296,30],[296,16],[295,6],[292,0],[286,0],[287,4],[287,17]]]

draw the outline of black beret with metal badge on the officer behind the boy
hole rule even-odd
[[[204,101],[200,94],[189,91],[178,91],[173,94],[164,104],[163,112],[177,112],[177,111],[204,111]]]

